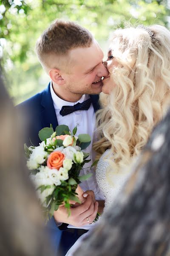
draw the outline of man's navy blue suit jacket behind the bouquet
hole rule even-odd
[[[99,109],[99,95],[90,95],[90,97],[94,111],[96,112]],[[21,116],[23,117],[23,129],[26,134],[25,143],[28,146],[30,146],[31,143],[34,146],[39,145],[41,141],[38,137],[38,132],[42,128],[50,127],[50,124],[52,124],[55,130],[58,125],[51,97],[50,83],[45,90],[17,105],[16,108],[21,112]],[[63,228],[60,227],[60,230],[65,230],[66,226],[67,225],[62,225]],[[54,218],[51,218],[51,220],[48,221],[47,227],[54,250],[57,251],[62,232],[57,227]]]

